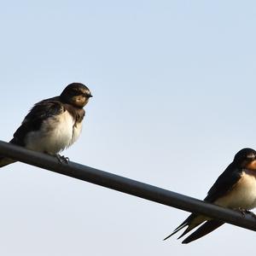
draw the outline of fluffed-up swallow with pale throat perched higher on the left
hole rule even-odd
[[[9,143],[67,161],[59,153],[78,139],[85,114],[84,106],[90,97],[90,90],[84,84],[68,84],[60,96],[36,103]],[[0,156],[0,167],[14,162]]]

